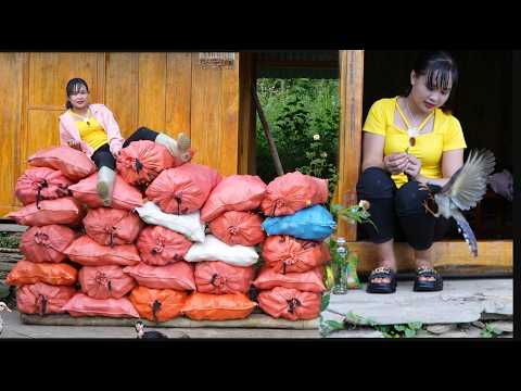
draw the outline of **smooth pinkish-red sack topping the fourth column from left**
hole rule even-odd
[[[201,210],[201,219],[208,223],[226,211],[256,210],[265,194],[266,184],[258,176],[231,175],[212,190]]]

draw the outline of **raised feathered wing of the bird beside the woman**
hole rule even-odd
[[[460,210],[470,210],[485,194],[486,181],[495,165],[496,160],[491,151],[470,151],[467,162],[440,192],[449,197]]]

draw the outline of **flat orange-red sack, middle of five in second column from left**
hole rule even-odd
[[[71,261],[84,266],[131,266],[141,262],[136,244],[101,245],[84,235],[64,251]]]

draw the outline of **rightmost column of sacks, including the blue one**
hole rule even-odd
[[[323,242],[335,223],[321,205],[328,181],[298,172],[276,178],[262,203],[268,238],[263,244],[265,265],[254,286],[260,308],[275,318],[314,319],[319,316],[323,264],[330,260]]]

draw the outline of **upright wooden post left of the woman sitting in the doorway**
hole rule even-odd
[[[340,51],[340,135],[339,188],[336,203],[357,202],[356,182],[360,169],[361,105],[364,91],[364,51]],[[356,241],[356,225],[339,219],[338,235]]]

